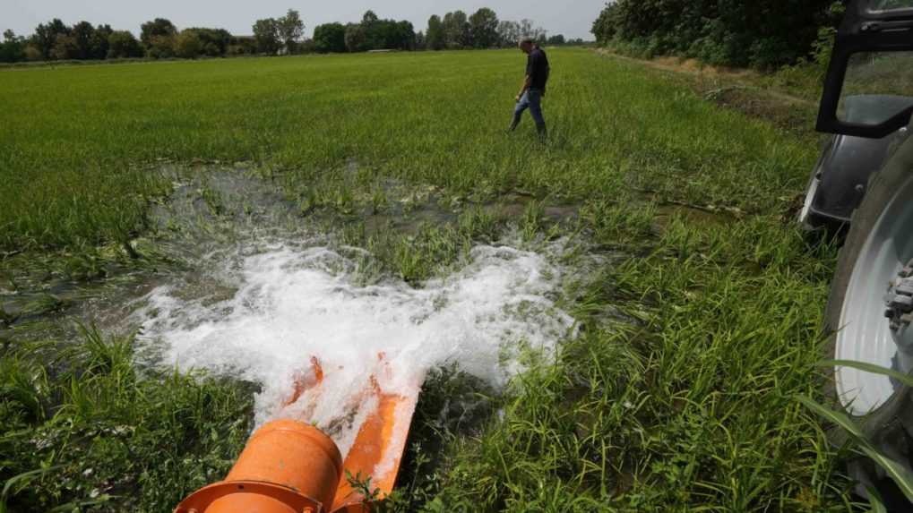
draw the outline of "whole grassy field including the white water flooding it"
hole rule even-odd
[[[845,510],[815,149],[582,49],[507,137],[516,58],[0,72],[0,501],[171,511],[421,386],[392,511]]]

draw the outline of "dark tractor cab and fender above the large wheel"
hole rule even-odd
[[[813,168],[800,222],[844,230],[913,114],[913,0],[847,6],[824,85],[818,131],[833,133]]]

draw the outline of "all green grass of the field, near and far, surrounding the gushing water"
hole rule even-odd
[[[390,508],[845,510],[841,455],[794,399],[820,385],[835,258],[788,215],[816,148],[635,62],[550,59],[545,145],[529,119],[503,133],[516,51],[0,71],[0,247],[26,249],[6,271],[59,258],[48,276],[105,282],[110,259],[154,267],[146,247],[168,230],[151,204],[176,201],[157,159],[192,175],[200,160],[247,162],[300,218],[369,249],[373,276],[416,286],[508,229],[530,244],[572,236],[610,262],[563,300],[581,338],[502,396],[478,399],[488,391],[458,374],[433,380]],[[197,195],[206,215],[237,206]],[[498,211],[516,196],[529,200],[519,212]],[[395,223],[428,204],[446,219]],[[553,204],[577,215],[555,223]],[[391,227],[372,228],[376,215]],[[58,303],[39,296],[34,311]],[[0,328],[15,328],[7,317]],[[69,360],[53,349],[62,340],[34,351],[16,330],[0,337],[0,479],[24,476],[12,510],[108,494],[88,509],[168,511],[243,443],[250,392],[236,383],[137,370],[128,340],[93,330],[67,341],[86,348]],[[477,412],[457,395],[487,413],[450,422]],[[93,474],[101,461],[110,476]]]

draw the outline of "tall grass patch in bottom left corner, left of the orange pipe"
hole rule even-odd
[[[69,350],[2,355],[0,510],[170,511],[226,474],[251,427],[249,391],[143,373],[131,337],[80,333]]]

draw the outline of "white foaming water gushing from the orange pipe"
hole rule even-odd
[[[183,284],[156,288],[138,314],[141,340],[182,370],[260,383],[258,423],[307,417],[343,454],[352,426],[376,404],[363,393],[372,376],[385,393],[402,393],[456,362],[501,386],[521,369],[519,348],[554,351],[573,330],[552,300],[561,269],[511,247],[477,246],[462,270],[424,288],[395,280],[358,286],[356,262],[325,247],[272,246],[210,267],[206,279],[236,293],[213,302],[184,298]],[[325,375],[320,393],[284,407],[296,380],[313,378],[312,357]]]

